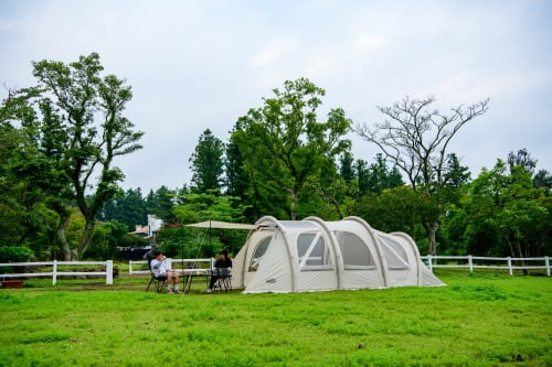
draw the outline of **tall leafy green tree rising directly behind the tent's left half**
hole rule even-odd
[[[252,188],[286,194],[286,211],[296,219],[297,198],[305,183],[349,148],[343,136],[351,121],[337,108],[320,122],[317,109],[325,90],[307,78],[287,80],[283,90],[273,93],[263,107],[250,109],[238,119],[234,138]]]

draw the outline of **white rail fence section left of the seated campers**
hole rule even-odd
[[[105,266],[105,271],[60,271],[59,266]],[[29,273],[4,273],[2,268],[12,267],[52,267],[52,271],[47,272],[29,272]],[[55,285],[57,277],[74,277],[74,276],[105,276],[105,283],[113,284],[113,260],[106,261],[44,261],[44,262],[7,262],[0,263],[0,279],[6,278],[32,278],[32,277],[52,277],[52,284]]]

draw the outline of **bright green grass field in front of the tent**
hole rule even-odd
[[[34,281],[0,290],[0,366],[552,366],[552,279],[438,276],[296,294]]]

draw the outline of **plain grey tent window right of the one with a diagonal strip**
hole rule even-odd
[[[341,249],[341,257],[346,270],[375,269],[374,258],[367,244],[355,234],[335,231]]]

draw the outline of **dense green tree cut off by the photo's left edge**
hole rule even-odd
[[[60,192],[60,174],[36,145],[39,95],[36,88],[8,90],[0,105],[0,244],[29,246],[42,256],[54,241],[55,218],[45,203],[52,202],[49,188]]]

